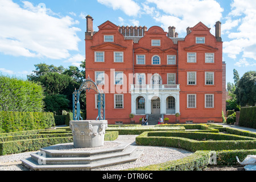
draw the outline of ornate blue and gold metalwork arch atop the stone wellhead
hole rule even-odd
[[[73,121],[82,120],[80,114],[80,94],[84,90],[94,90],[98,94],[98,117],[96,120],[105,120],[105,93],[98,89],[98,86],[92,79],[88,76],[84,82],[82,82],[79,90],[75,89],[73,92]]]

